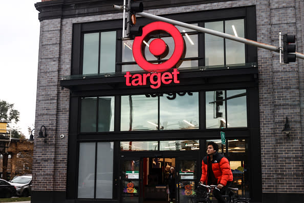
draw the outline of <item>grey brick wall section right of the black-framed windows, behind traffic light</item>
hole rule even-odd
[[[256,1],[257,40],[278,46],[279,31],[296,34],[302,53],[302,3]],[[278,59],[277,53],[258,49],[263,192],[303,193],[303,62],[279,65]],[[289,137],[281,132],[286,116],[293,130]]]

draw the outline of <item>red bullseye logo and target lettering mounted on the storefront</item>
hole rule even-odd
[[[184,52],[184,39],[180,31],[173,25],[164,23],[164,22],[154,22],[143,27],[143,32],[141,36],[135,37],[133,42],[133,56],[136,63],[145,71],[150,72],[146,74],[134,74],[131,72],[126,72],[126,85],[127,86],[143,86],[147,84],[147,80],[151,83],[150,87],[157,89],[161,84],[170,84],[170,83],[180,83],[178,79],[178,70],[173,69],[182,57]],[[143,55],[143,43],[144,39],[151,33],[155,31],[165,31],[169,33],[175,43],[175,48],[171,57],[164,63],[161,64],[151,64],[147,62]],[[162,55],[167,49],[167,45],[164,40],[160,38],[154,39],[149,45],[149,51],[155,56]],[[167,71],[167,72],[165,72]],[[148,79],[149,78],[149,79]]]

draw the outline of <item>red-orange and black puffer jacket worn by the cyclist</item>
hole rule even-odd
[[[207,182],[208,179],[208,159],[209,156],[205,156],[202,161],[202,177],[201,182]],[[213,154],[212,171],[216,179],[218,179],[218,184],[226,186],[227,181],[233,180],[233,175],[230,169],[228,159],[218,152]]]

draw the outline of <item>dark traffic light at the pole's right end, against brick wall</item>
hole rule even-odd
[[[289,64],[289,62],[295,62],[296,55],[292,54],[295,52],[295,35],[284,34],[283,35],[283,58],[284,63]]]

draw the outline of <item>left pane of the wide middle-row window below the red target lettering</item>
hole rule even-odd
[[[157,130],[158,98],[145,95],[121,96],[121,131]]]

